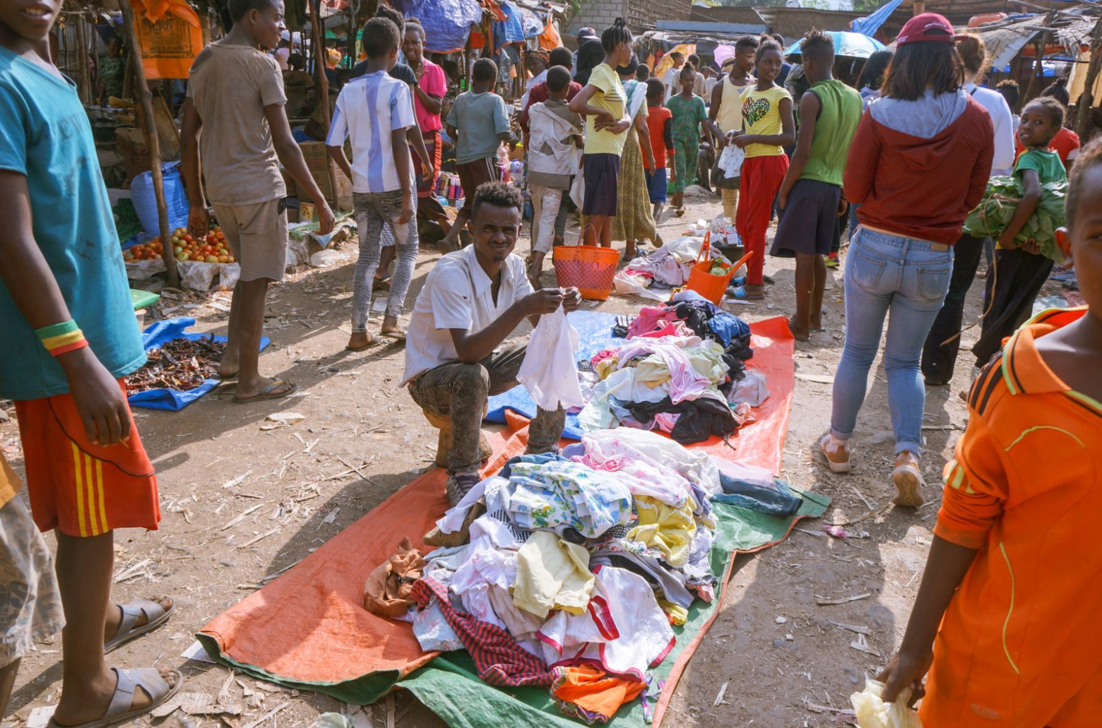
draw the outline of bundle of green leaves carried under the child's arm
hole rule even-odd
[[[1018,208],[1018,200],[1025,194],[1017,177],[992,177],[980,205],[964,220],[964,232],[976,238],[991,237],[997,240],[1009,227]],[[1040,248],[1041,254],[1058,264],[1063,263],[1063,251],[1056,242],[1056,229],[1065,225],[1063,198],[1067,194],[1068,183],[1065,181],[1041,185],[1037,210],[1015,236],[1014,242],[1020,246],[1033,240]]]

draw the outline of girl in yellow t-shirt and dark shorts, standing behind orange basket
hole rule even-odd
[[[616,217],[619,157],[631,127],[627,95],[616,74],[616,66],[631,61],[631,31],[623,18],[601,34],[605,61],[593,69],[585,87],[570,102],[570,110],[585,117],[585,216],[584,241],[587,246],[613,245],[612,218]]]

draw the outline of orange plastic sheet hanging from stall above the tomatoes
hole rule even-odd
[[[187,78],[203,50],[199,17],[185,0],[130,0],[145,78]]]

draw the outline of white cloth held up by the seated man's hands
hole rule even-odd
[[[517,381],[525,385],[541,410],[554,412],[559,406],[580,408],[585,404],[577,381],[577,332],[566,320],[559,306],[553,314],[540,316],[539,326],[528,339]]]

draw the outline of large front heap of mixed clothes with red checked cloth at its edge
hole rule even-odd
[[[365,607],[412,622],[425,651],[467,650],[493,685],[547,686],[558,708],[607,722],[649,713],[698,599],[716,598],[712,499],[781,515],[799,498],[760,468],[655,433],[585,435],[525,455],[437,521],[422,556],[408,540],[365,585]]]

